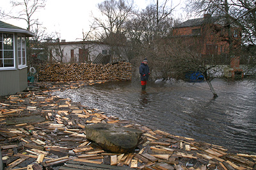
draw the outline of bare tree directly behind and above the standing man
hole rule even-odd
[[[129,58],[134,65],[139,65],[143,58],[148,58],[154,77],[170,77],[170,58],[166,55],[165,39],[172,35],[173,8],[166,6],[166,0],[159,5],[150,4],[126,23],[129,40]],[[134,58],[136,56],[136,58]],[[151,71],[150,71],[151,72]]]

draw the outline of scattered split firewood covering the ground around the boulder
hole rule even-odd
[[[119,120],[49,93],[101,82],[36,83],[33,91],[0,98],[4,169],[255,169],[256,155],[228,153],[221,146]],[[143,135],[133,152],[109,153],[86,139],[84,127],[92,123],[118,123]]]

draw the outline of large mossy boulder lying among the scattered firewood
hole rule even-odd
[[[136,148],[143,132],[117,124],[97,123],[85,127],[86,138],[113,153],[127,153]]]

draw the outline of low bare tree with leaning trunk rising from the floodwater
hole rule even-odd
[[[184,79],[184,75],[187,73],[195,74],[195,77],[202,73],[213,97],[218,97],[211,84],[212,79],[214,79],[211,74],[220,70],[218,59],[213,58],[211,55],[203,56],[200,54],[198,49],[202,49],[203,43],[200,43],[197,38],[192,38],[191,41],[184,41],[184,38],[172,38],[170,43],[172,43],[172,46],[169,49],[169,55],[172,60],[173,77]],[[199,74],[196,75],[196,73]]]

